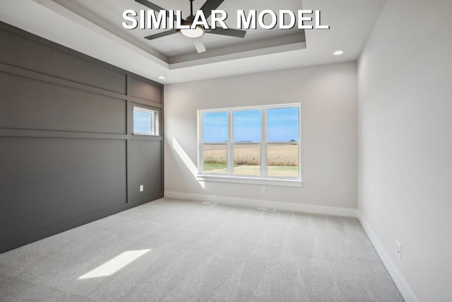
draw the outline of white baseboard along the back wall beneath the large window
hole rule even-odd
[[[258,199],[242,199],[242,198],[232,198],[232,197],[221,197],[203,194],[189,194],[189,193],[179,193],[179,192],[169,192],[165,191],[165,197],[174,199],[188,199],[196,200],[199,202],[217,202],[218,204],[232,204],[243,207],[262,207],[268,209],[278,209],[285,211],[300,211],[306,213],[314,214],[324,214],[324,215],[335,215],[335,216],[346,216],[346,217],[356,217],[357,210],[349,208],[338,208],[338,207],[323,207],[314,206],[310,204],[292,204],[288,202],[270,202],[266,200]]]

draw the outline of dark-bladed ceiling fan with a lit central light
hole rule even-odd
[[[143,4],[144,6],[148,6],[148,8],[152,9],[153,11],[165,11],[164,8],[161,8],[160,6],[157,6],[147,0],[135,0],[136,2]],[[193,1],[190,1],[190,16],[186,17],[186,20],[182,19],[182,25],[191,25],[194,21],[194,14],[193,14]],[[212,10],[215,10],[222,4],[222,2],[225,0],[207,0],[206,3],[203,4],[201,7],[201,11],[203,11],[204,16],[206,16],[206,19],[210,17]],[[167,13],[168,17],[168,13]],[[246,34],[245,30],[236,30],[236,29],[225,29],[225,28],[210,28],[205,29],[202,25],[196,25],[196,28],[193,29],[173,29],[173,30],[167,30],[163,33],[157,33],[155,35],[148,35],[145,37],[145,39],[148,40],[154,40],[158,37],[165,37],[167,35],[172,35],[174,33],[181,33],[185,37],[190,37],[193,40],[193,44],[196,48],[196,51],[198,53],[205,52],[206,46],[204,46],[204,42],[201,39],[201,37],[204,35],[204,33],[212,33],[214,35],[227,35],[229,37],[244,37]]]

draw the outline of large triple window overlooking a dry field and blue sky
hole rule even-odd
[[[198,110],[201,180],[301,184],[300,105]]]

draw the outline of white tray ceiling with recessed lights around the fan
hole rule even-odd
[[[151,0],[152,1],[152,0]],[[182,35],[143,39],[158,30],[124,30],[122,12],[147,9],[134,0],[14,0],[0,1],[0,20],[160,83],[178,83],[221,76],[355,60],[386,0],[225,0],[235,28],[238,9],[321,10],[330,30],[248,30],[242,40],[204,35],[208,52],[196,54]],[[153,0],[166,9],[188,15],[188,0]],[[194,1],[198,9],[203,0]],[[231,13],[232,12],[232,13]],[[333,56],[343,50],[341,56]],[[165,76],[166,79],[158,79]]]

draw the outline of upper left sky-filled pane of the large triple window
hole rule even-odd
[[[227,112],[203,113],[203,142],[227,142]]]

